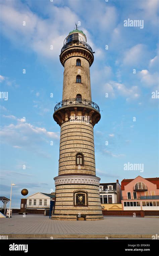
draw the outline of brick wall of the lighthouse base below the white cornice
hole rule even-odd
[[[88,206],[74,206],[74,191],[84,190],[88,192]],[[103,219],[101,202],[99,197],[99,186],[87,184],[57,185],[55,189],[56,203],[53,219],[60,216],[76,220],[77,215],[86,215],[86,219]]]

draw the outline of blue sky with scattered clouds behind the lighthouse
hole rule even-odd
[[[55,190],[59,55],[75,22],[95,52],[92,101],[101,113],[94,127],[96,175],[101,183],[158,177],[159,99],[152,97],[159,91],[158,1],[0,0],[0,10],[1,196],[10,198],[16,184],[17,208],[23,188],[28,195]],[[143,21],[143,28],[124,26],[128,19]],[[127,163],[144,168],[124,170]]]

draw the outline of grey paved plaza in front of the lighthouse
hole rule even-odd
[[[99,221],[58,221],[42,215],[13,215],[0,219],[0,234],[8,238],[150,238],[158,233],[158,218],[105,216]]]

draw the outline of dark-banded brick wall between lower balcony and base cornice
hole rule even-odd
[[[84,155],[84,166],[78,169],[76,153]],[[66,122],[61,125],[59,175],[86,173],[96,175],[93,126],[86,122]]]

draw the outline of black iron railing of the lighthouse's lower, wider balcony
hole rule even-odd
[[[93,101],[90,100],[79,100],[79,99],[68,99],[68,100],[63,100],[59,103],[56,104],[54,111],[56,111],[57,109],[61,108],[61,107],[65,107],[65,106],[70,106],[70,105],[81,105],[81,106],[88,106],[88,107],[93,107],[96,110],[98,110],[99,112],[99,106],[94,103]]]

